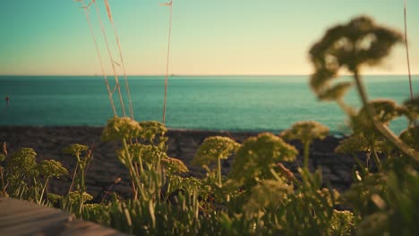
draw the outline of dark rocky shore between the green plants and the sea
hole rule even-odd
[[[55,159],[64,164],[73,173],[75,158],[62,152],[64,147],[73,143],[80,143],[92,148],[93,161],[87,173],[87,189],[96,200],[100,200],[105,191],[112,190],[127,195],[130,192],[128,172],[115,156],[115,150],[120,146],[117,142],[102,142],[100,134],[102,127],[0,127],[0,142],[7,143],[10,154],[20,147],[31,147],[38,153],[38,160]],[[227,132],[227,131],[177,131],[167,132],[168,156],[184,161],[193,176],[202,176],[203,170],[191,165],[192,158],[201,145],[203,139],[209,136],[227,136],[238,142],[257,135],[254,132]],[[310,167],[320,167],[323,173],[323,182],[339,191],[346,190],[352,182],[352,169],[355,161],[352,156],[334,153],[335,147],[341,139],[328,137],[315,141],[311,146]],[[303,153],[301,143],[292,142],[300,153]],[[233,160],[223,162],[223,172],[228,170]],[[298,166],[303,164],[303,156],[299,155],[293,164],[285,164],[296,173]],[[71,175],[71,174],[70,174]],[[117,178],[122,181],[114,184]],[[49,191],[64,194],[68,191],[71,176],[51,181]]]

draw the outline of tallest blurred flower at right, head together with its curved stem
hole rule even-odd
[[[363,65],[381,63],[381,60],[389,55],[392,46],[397,43],[403,43],[403,36],[398,31],[377,25],[366,16],[333,27],[310,49],[315,69],[310,84],[317,96],[322,97],[330,89],[331,81],[338,77],[339,70],[346,69],[352,72],[356,89],[372,125],[406,156],[419,162],[419,154],[411,153],[405,143],[389,131],[388,127],[376,120],[360,76]],[[338,104],[351,112],[341,100]]]

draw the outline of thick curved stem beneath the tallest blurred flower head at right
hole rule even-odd
[[[389,131],[389,128],[385,127],[381,124],[381,122],[378,122],[375,119],[375,112],[373,110],[373,107],[368,103],[367,94],[365,91],[365,88],[363,87],[363,83],[361,81],[361,78],[359,76],[359,73],[357,70],[354,72],[354,78],[356,82],[356,89],[358,90],[359,96],[361,97],[361,100],[363,102],[363,106],[365,106],[368,116],[370,117],[370,120],[372,121],[372,124],[374,127],[381,132],[381,134],[388,139],[394,146],[398,147],[398,149],[406,154],[406,156],[409,156],[412,158],[416,163],[419,163],[419,154],[415,152],[414,150],[410,150],[409,147],[402,142],[394,133]]]

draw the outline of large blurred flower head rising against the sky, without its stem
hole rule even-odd
[[[316,70],[312,80],[321,85],[313,89],[319,92],[327,88],[342,67],[358,72],[363,64],[380,63],[398,42],[403,42],[398,31],[381,27],[366,16],[329,29],[310,50]],[[318,72],[321,76],[317,76]]]

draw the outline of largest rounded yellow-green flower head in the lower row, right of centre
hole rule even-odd
[[[254,183],[269,176],[278,162],[293,162],[298,151],[272,133],[246,139],[235,154],[229,177],[239,183]]]

